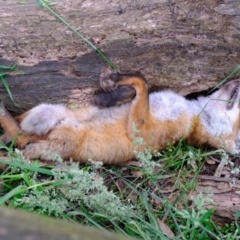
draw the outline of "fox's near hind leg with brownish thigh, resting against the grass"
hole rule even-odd
[[[23,114],[23,118],[25,115]],[[17,147],[23,148],[23,155],[29,159],[54,160],[56,157],[69,159],[73,156],[77,144],[75,129],[59,127],[42,136],[22,132],[17,121],[3,104],[0,104],[0,124],[5,131],[1,140],[8,142],[16,139]]]

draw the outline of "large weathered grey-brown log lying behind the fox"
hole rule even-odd
[[[181,94],[213,87],[240,63],[239,0],[63,0],[53,6],[121,70]],[[9,62],[10,61],[10,62]],[[88,104],[106,63],[35,2],[0,0],[0,64],[22,112],[40,102]]]

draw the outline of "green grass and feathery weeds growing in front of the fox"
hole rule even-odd
[[[214,209],[206,207],[212,201],[210,194],[200,193],[193,203],[187,197],[197,186],[202,159],[216,151],[203,152],[181,141],[155,156],[157,166],[149,173],[142,167],[102,167],[94,161],[79,166],[57,159],[54,166],[46,165],[25,159],[12,147],[2,148],[11,161],[0,160],[8,166],[0,175],[1,205],[147,240],[240,236],[240,212],[233,223],[220,228],[212,219]],[[140,161],[152,161],[147,152],[138,155],[143,158]],[[162,192],[163,186],[172,183],[167,194]],[[178,198],[171,201],[176,190]]]

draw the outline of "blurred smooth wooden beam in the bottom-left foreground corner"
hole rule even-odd
[[[127,240],[119,234],[37,216],[19,210],[0,209],[0,238],[4,240]]]

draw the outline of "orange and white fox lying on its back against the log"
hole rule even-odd
[[[5,130],[2,141],[18,135],[16,145],[29,159],[68,160],[122,164],[134,158],[134,138],[152,151],[185,138],[189,144],[240,152],[240,80],[224,85],[209,97],[187,100],[170,91],[148,93],[139,74],[110,74],[101,79],[106,91],[132,86],[130,103],[101,109],[97,106],[68,109],[40,104],[13,119],[0,114]],[[137,131],[136,131],[137,129]]]

